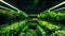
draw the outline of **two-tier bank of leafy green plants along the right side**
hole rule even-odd
[[[46,28],[46,34],[49,34],[49,36],[65,36],[65,13],[46,12],[39,14],[38,18],[40,25]]]

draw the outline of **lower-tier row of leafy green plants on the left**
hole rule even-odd
[[[0,26],[0,36],[20,36],[21,32],[25,31],[27,28],[24,25],[26,25],[26,21],[20,21],[20,24],[15,22],[8,26]]]

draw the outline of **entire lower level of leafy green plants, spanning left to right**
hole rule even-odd
[[[38,21],[36,30],[29,29],[26,21],[15,22],[5,28],[0,28],[0,36],[64,36],[65,26],[56,25],[53,22]],[[34,23],[35,24],[35,23]]]

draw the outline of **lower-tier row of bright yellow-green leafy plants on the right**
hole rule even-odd
[[[56,25],[55,22],[39,21],[40,26],[43,28],[43,36],[65,36],[65,25]],[[42,31],[42,30],[41,30]]]

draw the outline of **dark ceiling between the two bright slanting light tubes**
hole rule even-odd
[[[39,14],[64,0],[4,0],[27,14]],[[0,5],[4,5],[0,3]],[[6,5],[4,5],[6,6]],[[9,7],[9,6],[6,6]]]

